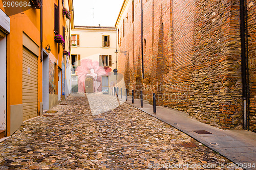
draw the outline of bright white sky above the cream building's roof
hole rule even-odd
[[[123,0],[74,0],[75,26],[114,27]]]

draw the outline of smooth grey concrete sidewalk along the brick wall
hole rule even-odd
[[[256,133],[246,130],[222,130],[215,128],[190,118],[187,113],[162,106],[157,106],[156,114],[153,114],[152,105],[144,101],[143,108],[141,109],[140,100],[135,99],[134,104],[132,104],[131,96],[128,96],[127,103],[174,126],[234,163],[242,163],[243,168],[256,169],[246,167],[248,163],[251,163],[251,165],[254,163],[254,166],[256,166]],[[211,134],[198,134],[194,132],[197,130],[205,130]]]

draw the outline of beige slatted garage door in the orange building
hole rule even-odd
[[[23,120],[37,116],[37,56],[23,47]]]

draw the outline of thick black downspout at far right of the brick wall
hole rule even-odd
[[[246,45],[245,45],[245,16],[244,0],[240,0],[240,35],[241,35],[241,69],[242,69],[242,90],[243,90],[243,117],[244,129],[248,127],[247,113],[247,80],[246,80]]]

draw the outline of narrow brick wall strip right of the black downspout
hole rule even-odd
[[[247,1],[248,58],[250,80],[250,130],[256,131],[256,1]]]

